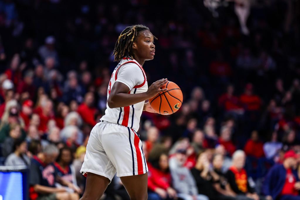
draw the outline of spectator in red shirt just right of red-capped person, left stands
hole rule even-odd
[[[37,113],[40,116],[40,124],[38,127],[39,131],[45,133],[47,131],[48,121],[53,119],[53,103],[47,99],[41,103],[41,112]]]

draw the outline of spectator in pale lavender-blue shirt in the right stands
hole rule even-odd
[[[268,159],[274,159],[275,157],[278,157],[278,152],[282,148],[282,146],[282,143],[278,142],[277,140],[277,132],[273,132],[270,142],[266,142],[263,145],[265,157]]]

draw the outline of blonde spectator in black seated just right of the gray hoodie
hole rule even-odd
[[[220,176],[211,168],[211,163],[205,152],[199,155],[196,166],[191,170],[191,173],[195,178],[200,194],[207,196],[210,200],[234,199],[218,193],[215,189],[219,185]]]

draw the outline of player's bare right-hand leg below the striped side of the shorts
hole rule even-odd
[[[127,190],[131,200],[148,199],[148,174],[120,177],[122,184]]]

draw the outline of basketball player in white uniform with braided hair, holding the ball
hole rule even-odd
[[[139,139],[140,116],[154,112],[145,100],[154,97],[167,79],[149,88],[143,64],[155,55],[154,39],[149,28],[129,26],[122,31],[113,55],[119,64],[108,85],[107,109],[92,129],[80,172],[87,176],[81,199],[98,200],[113,176],[121,178],[131,199],[146,200],[148,167]]]

